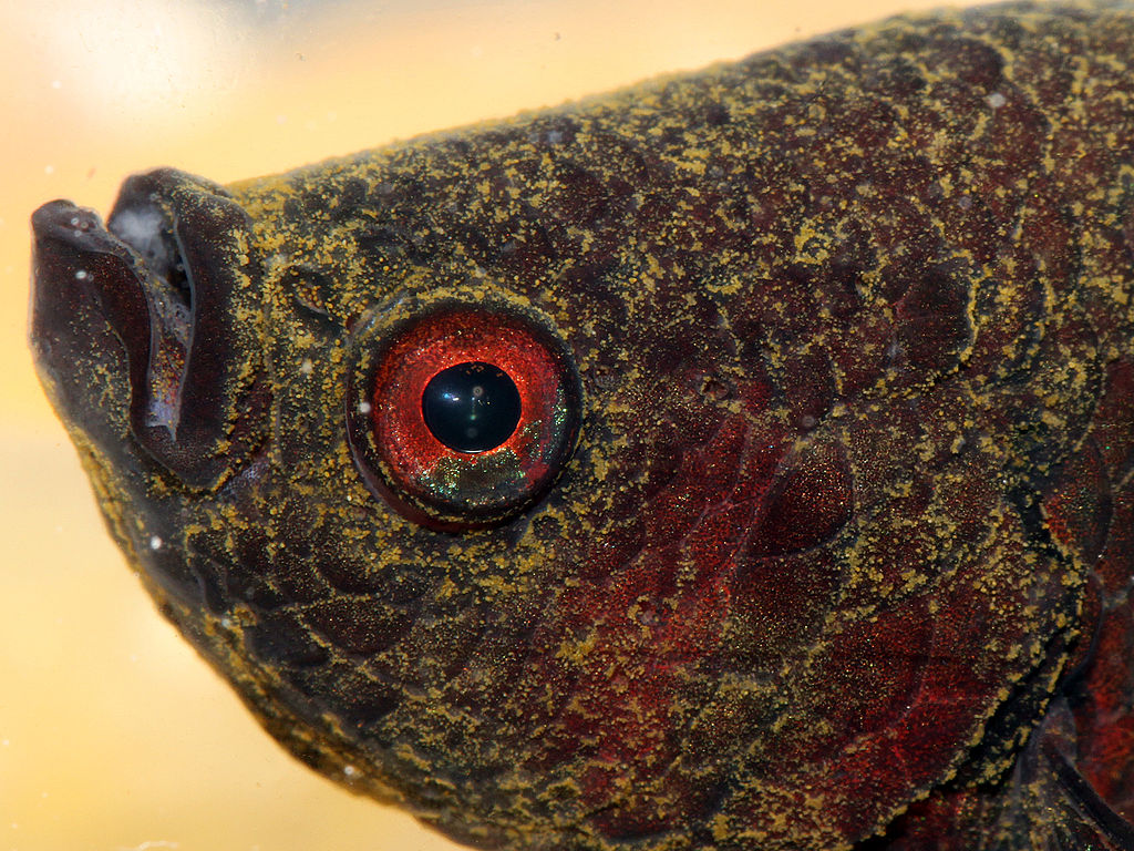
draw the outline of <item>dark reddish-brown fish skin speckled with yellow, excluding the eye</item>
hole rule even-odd
[[[1132,52],[1125,6],[899,18],[133,178],[111,230],[156,210],[187,279],[42,208],[41,376],[265,727],[455,837],[1131,849]],[[558,479],[469,528],[387,499],[355,405],[454,300],[582,389]]]

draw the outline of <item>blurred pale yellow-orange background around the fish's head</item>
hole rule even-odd
[[[286,170],[932,0],[0,0],[0,851],[454,851],[287,757],[105,536],[25,343],[27,218]]]

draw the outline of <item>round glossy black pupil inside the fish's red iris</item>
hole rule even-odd
[[[481,361],[441,370],[425,385],[422,414],[433,437],[457,452],[494,449],[519,422],[519,390],[507,372]]]

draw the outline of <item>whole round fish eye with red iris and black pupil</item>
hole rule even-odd
[[[399,305],[352,344],[347,437],[371,492],[469,529],[539,498],[578,435],[582,393],[550,322],[511,304]]]

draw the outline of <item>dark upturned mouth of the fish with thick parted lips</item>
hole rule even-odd
[[[247,214],[162,169],[129,178],[105,225],[52,201],[32,230],[32,349],[64,420],[107,449],[126,426],[186,483],[215,487],[254,430],[242,422],[260,351],[245,327],[259,297]]]

